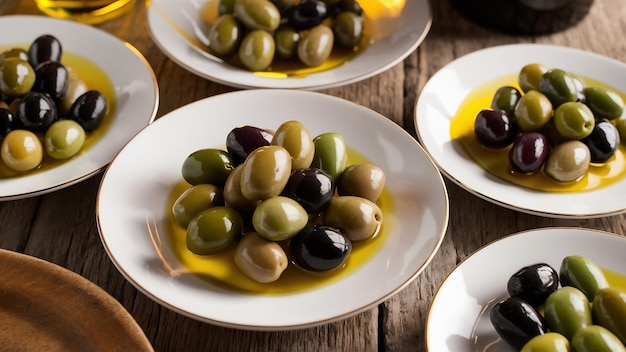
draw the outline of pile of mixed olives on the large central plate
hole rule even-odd
[[[297,120],[276,131],[235,127],[226,150],[194,151],[181,173],[190,188],[171,213],[187,248],[213,255],[234,247],[235,264],[256,282],[278,280],[289,263],[311,272],[342,267],[353,242],[381,229],[383,170],[348,165],[340,134],[312,138]]]

